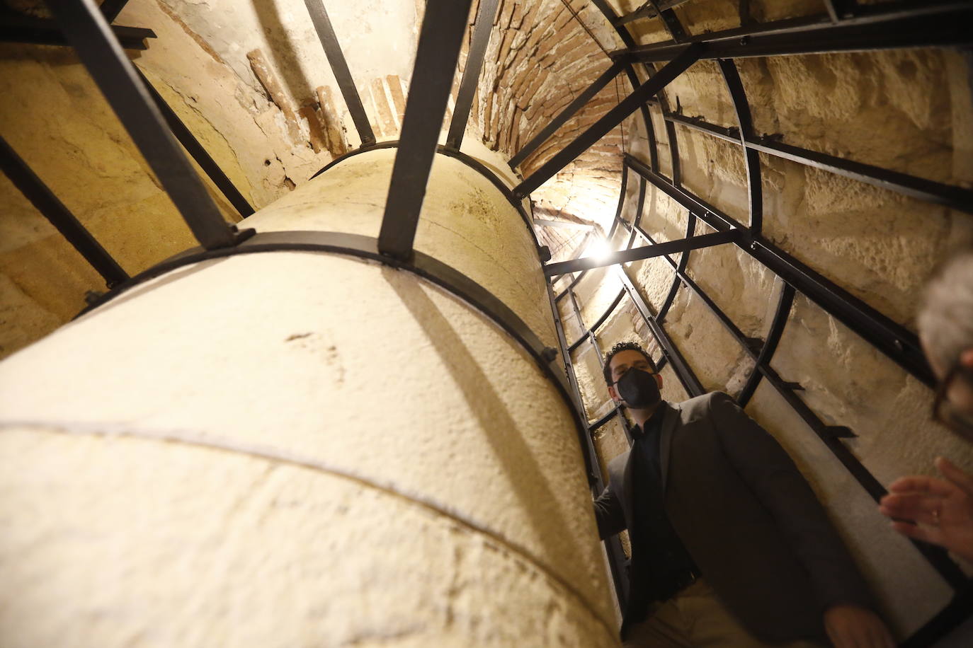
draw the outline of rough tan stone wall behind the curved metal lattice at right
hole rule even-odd
[[[631,11],[634,5],[622,8]],[[729,3],[687,3],[676,14],[690,21],[692,33],[699,33],[736,26],[730,16],[735,11]],[[755,3],[752,8],[761,19],[819,11],[816,3],[807,2]],[[658,20],[641,22],[655,22],[656,27],[633,26],[639,42],[665,40]],[[968,67],[954,53],[744,59],[739,69],[758,132],[779,132],[784,142],[796,146],[969,186],[973,111],[965,83]],[[666,94],[670,110],[736,125],[726,86],[711,63],[690,68]],[[659,170],[670,176],[667,125],[657,105],[650,107],[650,114]],[[651,145],[644,126],[632,123],[630,132],[629,150],[648,162]],[[746,224],[749,199],[739,147],[678,124],[673,133],[683,186]],[[968,215],[767,154],[760,161],[765,234],[907,326],[935,264],[973,240]],[[622,209],[627,221],[633,218],[637,198],[637,182],[632,180],[630,176]],[[641,223],[657,241],[686,234],[685,210],[653,188],[646,192]],[[695,233],[708,231],[699,223]],[[619,233],[613,246],[627,241]],[[630,264],[628,272],[658,309],[672,283],[671,267],[662,259],[649,259]],[[781,285],[773,273],[735,246],[693,251],[687,272],[745,335],[766,336]],[[613,290],[607,284],[579,284],[578,298],[598,303]],[[654,346],[651,333],[631,324],[629,317],[620,313],[605,324],[599,336],[604,346],[631,337]],[[692,291],[679,290],[666,328],[705,389],[739,392],[752,362]],[[907,473],[931,473],[936,456],[973,466],[968,446],[929,423],[928,389],[800,295],[774,367],[784,380],[800,383],[800,397],[826,424],[850,426],[858,434],[845,443],[883,484]],[[663,375],[664,395],[685,397],[669,365]],[[595,378],[585,375],[581,380],[591,382],[583,389],[593,398],[588,407],[603,408],[606,396],[596,389]],[[773,388],[763,384],[750,411],[781,440],[824,500],[897,634],[905,637],[917,630],[948,599],[944,581],[908,542],[887,529],[875,502]],[[615,452],[608,445],[605,450]]]

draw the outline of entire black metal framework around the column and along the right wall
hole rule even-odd
[[[649,140],[650,159],[646,163],[631,157],[631,155],[626,155],[618,210],[608,236],[611,239],[617,226],[622,226],[630,232],[626,246],[628,252],[615,256],[611,261],[623,288],[609,308],[597,318],[595,324],[570,346],[567,345],[564,338],[557,302],[567,295],[571,300],[571,307],[578,318],[579,325],[584,327],[574,288],[587,272],[587,269],[582,268],[595,267],[595,265],[592,265],[590,260],[575,259],[547,266],[549,276],[557,272],[581,270],[557,297],[554,295],[550,279],[548,281],[548,298],[554,312],[559,345],[564,358],[564,373],[561,373],[559,367],[554,365],[557,351],[544,347],[526,324],[523,324],[523,321],[500,300],[461,273],[436,259],[415,252],[412,248],[415,224],[424,197],[425,183],[428,179],[432,159],[437,152],[436,139],[449,98],[460,39],[465,30],[466,18],[469,15],[470,0],[465,2],[430,0],[428,3],[426,17],[422,24],[413,78],[413,86],[421,87],[423,92],[421,95],[417,92],[410,92],[401,140],[401,148],[405,153],[396,156],[385,218],[382,221],[382,230],[378,239],[333,232],[270,232],[246,240],[246,237],[252,234],[252,230],[236,232],[233,226],[223,222],[204,186],[193,173],[188,160],[178,150],[175,141],[163,126],[162,115],[159,111],[165,111],[164,102],[159,108],[153,106],[150,90],[146,87],[148,84],[143,85],[142,81],[135,76],[133,67],[122,51],[122,45],[144,49],[144,43],[140,43],[140,39],[154,37],[155,34],[151,33],[150,30],[111,27],[108,24],[121,11],[121,8],[125,5],[125,0],[107,0],[100,10],[95,7],[91,0],[51,0],[50,5],[57,16],[57,22],[64,27],[63,35],[54,33],[54,22],[42,20],[40,22],[34,21],[35,24],[31,27],[37,31],[21,30],[20,33],[16,34],[19,38],[14,40],[24,42],[23,38],[26,37],[28,41],[31,38],[35,39],[29,42],[63,43],[66,38],[66,42],[78,51],[95,82],[101,87],[102,92],[125,123],[132,138],[160,177],[163,187],[176,203],[203,248],[187,251],[135,277],[125,278],[124,271],[118,267],[118,264],[114,263],[110,256],[107,256],[107,253],[97,245],[90,234],[57,201],[50,189],[44,187],[43,183],[26,168],[22,160],[19,160],[16,153],[4,143],[3,153],[5,155],[3,161],[5,170],[13,173],[12,177],[18,177],[19,174],[19,182],[15,181],[18,183],[18,187],[38,205],[45,216],[52,219],[52,222],[57,220],[61,222],[58,228],[78,247],[79,251],[85,250],[82,254],[85,254],[92,265],[105,276],[109,286],[115,286],[107,295],[92,300],[92,308],[105,303],[132,286],[190,263],[235,254],[280,250],[302,250],[371,258],[393,267],[412,271],[446,290],[450,290],[483,311],[486,316],[517,339],[556,384],[561,396],[571,405],[576,417],[588,476],[590,483],[595,487],[603,485],[603,482],[600,471],[596,469],[595,447],[591,433],[598,427],[605,425],[611,417],[621,416],[621,412],[616,407],[593,424],[586,421],[584,403],[577,387],[570,354],[585,340],[588,340],[594,346],[599,360],[603,362],[595,337],[595,330],[604,324],[611,313],[628,297],[645,320],[662,350],[662,358],[658,361],[660,367],[671,363],[686,392],[690,395],[703,393],[703,385],[693,372],[692,367],[682,357],[677,346],[667,335],[665,329],[667,313],[674,303],[678,290],[680,288],[693,290],[714,317],[737,341],[742,352],[754,363],[754,369],[737,396],[740,404],[745,405],[756,391],[759,382],[766,380],[832,450],[836,458],[847,467],[847,470],[862,487],[870,495],[878,498],[884,493],[882,485],[841,442],[842,438],[853,436],[853,432],[846,426],[826,425],[801,399],[798,394],[802,389],[801,386],[784,380],[771,366],[775,349],[791,313],[795,295],[801,293],[810,298],[829,315],[846,324],[866,342],[882,351],[888,358],[894,360],[927,385],[933,383],[931,371],[922,357],[918,340],[911,331],[885,317],[876,309],[848,293],[847,290],[841,289],[834,282],[776,247],[775,244],[761,235],[763,215],[759,153],[768,153],[805,165],[826,169],[860,182],[888,188],[966,213],[973,213],[973,191],[934,183],[907,174],[891,172],[825,153],[793,147],[780,143],[774,138],[755,133],[746,95],[732,59],[746,56],[823,51],[970,45],[973,43],[973,33],[969,32],[963,25],[968,24],[973,18],[973,8],[970,8],[968,2],[957,1],[931,2],[919,7],[910,2],[859,6],[855,0],[825,0],[826,14],[759,24],[748,18],[748,5],[742,2],[740,14],[743,26],[716,33],[692,35],[686,33],[678,17],[672,11],[671,8],[678,4],[678,2],[672,0],[649,0],[636,12],[621,18],[615,16],[606,0],[593,0],[593,3],[602,15],[615,26],[626,49],[612,53],[614,64],[594,85],[585,91],[584,101],[572,102],[568,109],[562,111],[554,122],[548,124],[547,128],[531,140],[515,156],[514,160],[511,160],[511,165],[516,166],[517,162],[523,160],[525,155],[535,150],[536,146],[553,134],[564,120],[574,115],[603,85],[615,78],[619,71],[624,71],[627,74],[631,86],[634,88],[629,97],[620,102],[619,106],[609,111],[607,115],[598,119],[585,133],[568,145],[565,150],[557,153],[551,160],[542,165],[521,185],[514,189],[507,188],[483,164],[458,152],[463,130],[460,126],[465,126],[466,119],[468,119],[469,104],[472,102],[476,79],[479,77],[482,66],[483,50],[486,49],[486,41],[489,36],[489,25],[487,24],[489,21],[486,20],[485,16],[489,13],[490,7],[495,12],[495,0],[484,0],[476,21],[474,44],[471,47],[470,59],[467,64],[467,74],[464,74],[463,81],[460,84],[461,101],[457,101],[457,115],[450,124],[449,146],[441,147],[438,150],[439,153],[449,154],[464,161],[490,178],[494,186],[500,188],[511,204],[517,207],[528,231],[531,232],[531,235],[534,235],[531,226],[532,220],[527,216],[523,207],[523,198],[533,188],[539,187],[551,178],[578,154],[583,153],[622,120],[627,119],[635,110],[641,111]],[[374,134],[360,98],[358,98],[357,90],[351,81],[350,73],[347,70],[341,49],[338,47],[337,38],[333,29],[331,29],[327,14],[320,2],[316,0],[306,0],[306,6],[308,13],[314,20],[322,46],[335,70],[336,79],[342,87],[345,103],[348,104],[352,119],[355,120],[365,145],[356,152],[334,160],[325,168],[330,168],[350,154],[397,146],[398,143],[374,145]],[[636,47],[631,34],[623,25],[631,20],[647,17],[659,17],[671,39],[664,43]],[[12,40],[11,19],[19,18],[4,16],[0,19],[0,40]],[[56,31],[60,32],[59,29]],[[444,34],[446,35],[445,38],[443,37]],[[728,127],[707,123],[702,118],[687,118],[668,110],[666,96],[664,93],[660,93],[660,90],[700,58],[718,60],[736,108],[737,126]],[[644,65],[649,77],[649,80],[644,84],[639,83],[633,61],[638,61]],[[655,61],[667,62],[667,66],[656,71],[651,65]],[[598,86],[599,83],[602,85]],[[652,99],[652,95],[657,96]],[[650,117],[650,105],[661,111],[667,129],[671,179],[666,178],[660,171],[658,144]],[[675,131],[676,123],[726,141],[735,142],[740,146],[747,168],[750,202],[749,226],[743,226],[682,187]],[[178,126],[171,123],[171,119],[170,125],[174,130],[179,130]],[[534,149],[530,147],[534,147]],[[188,146],[187,148],[191,147]],[[212,166],[215,167],[215,164]],[[639,177],[638,204],[635,218],[631,223],[622,219],[630,172]],[[641,227],[640,219],[646,188],[649,183],[654,188],[666,192],[687,210],[687,231],[684,239],[657,243]],[[234,201],[232,200],[232,202]],[[234,202],[235,204],[236,202]],[[247,208],[249,208],[248,205]],[[243,210],[241,210],[241,214],[242,212]],[[698,222],[706,223],[716,230],[715,233],[697,235],[695,232]],[[648,245],[632,249],[637,237],[645,239]],[[536,238],[534,240],[536,242]],[[766,339],[746,336],[689,276],[687,263],[690,250],[693,247],[692,244],[703,240],[712,241],[713,244],[732,243],[761,262],[781,279],[775,317],[769,325]],[[653,247],[655,247],[655,250],[652,250]],[[678,261],[667,256],[675,252],[681,253]],[[656,313],[653,312],[651,305],[632,283],[622,265],[622,263],[635,258],[647,258],[649,256],[662,256],[674,270],[672,286],[662,308]],[[626,423],[624,417],[622,417],[622,421],[623,424]],[[628,430],[628,426],[626,428]],[[958,570],[955,563],[949,560],[945,552],[921,544],[917,544],[917,547],[944,579],[959,591],[959,595],[957,595],[954,603],[944,609],[940,615],[937,615],[907,642],[907,645],[911,648],[929,645],[955,628],[958,623],[969,616],[968,599],[973,596],[971,594],[973,590],[970,589],[968,579]],[[614,544],[609,543],[608,550],[611,557],[612,572],[616,579],[616,587],[622,587],[625,580],[625,561],[624,557],[620,558],[621,549],[617,540]],[[624,588],[620,591],[620,600],[624,604]]]

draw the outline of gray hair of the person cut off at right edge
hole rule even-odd
[[[973,251],[951,258],[925,289],[919,337],[940,371],[973,347]]]

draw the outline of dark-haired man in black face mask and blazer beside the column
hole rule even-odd
[[[632,342],[604,377],[635,423],[595,500],[601,537],[631,537],[626,646],[894,645],[810,486],[730,396],[663,400]]]

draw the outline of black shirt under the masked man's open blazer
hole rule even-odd
[[[660,403],[643,428],[631,430],[634,439],[632,459],[632,505],[634,529],[631,536],[632,574],[650,600],[666,600],[693,582],[699,569],[682,540],[669,523],[664,505],[659,442],[666,407]],[[647,608],[647,605],[646,605]],[[645,610],[638,614],[644,618]]]

